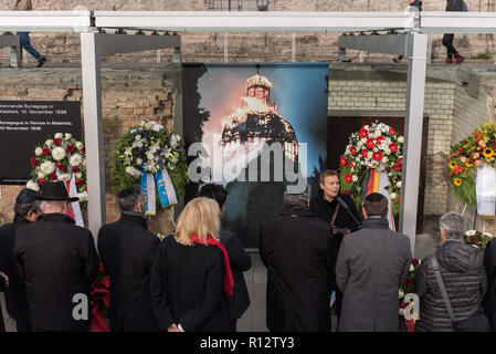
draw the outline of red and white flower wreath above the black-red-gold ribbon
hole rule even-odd
[[[339,165],[341,190],[351,195],[356,205],[360,200],[367,170],[383,165],[390,181],[388,191],[391,196],[393,214],[399,214],[403,137],[392,127],[377,121],[370,126],[363,125],[358,133],[350,135]]]

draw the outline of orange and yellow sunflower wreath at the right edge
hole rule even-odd
[[[495,146],[496,126],[486,123],[451,147],[447,168],[454,195],[471,207],[477,207],[475,167],[486,164],[496,168]]]

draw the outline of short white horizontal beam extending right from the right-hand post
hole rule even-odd
[[[496,12],[421,12],[422,33],[496,33]]]

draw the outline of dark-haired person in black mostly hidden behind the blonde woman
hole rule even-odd
[[[222,186],[208,184],[201,187],[199,197],[212,198],[219,204],[220,218],[224,216],[228,200],[228,190]],[[244,250],[238,236],[229,230],[219,231],[221,243],[228,251],[229,264],[231,266],[232,278],[234,280],[233,295],[229,298],[229,315],[231,319],[231,331],[236,332],[236,321],[250,306],[250,294],[243,272],[252,267],[252,259]]]

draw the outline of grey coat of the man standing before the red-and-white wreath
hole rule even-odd
[[[346,236],[336,281],[344,293],[340,332],[398,332],[398,291],[411,264],[410,239],[389,229],[388,220],[368,218]]]

